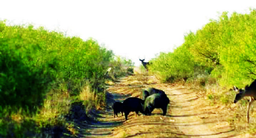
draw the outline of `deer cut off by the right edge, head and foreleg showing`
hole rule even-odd
[[[236,86],[234,86],[233,89],[234,91],[239,92],[238,94],[236,94],[234,103],[237,103],[237,101],[241,100],[243,97],[250,97],[247,107],[247,122],[249,123],[249,110],[252,103],[254,103],[254,101],[256,100],[256,80],[254,80],[254,82],[252,82],[250,86],[246,85],[244,90],[239,89]]]

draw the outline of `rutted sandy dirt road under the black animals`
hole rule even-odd
[[[140,97],[148,87],[162,89],[170,99],[167,115],[161,109],[154,109],[151,116],[132,112],[113,117],[111,105],[114,100]],[[216,106],[206,100],[202,92],[182,85],[163,84],[153,76],[136,74],[123,77],[120,82],[109,86],[107,108],[95,113],[97,121],[91,122],[83,133],[84,137],[244,137],[229,125],[231,116],[225,106]]]

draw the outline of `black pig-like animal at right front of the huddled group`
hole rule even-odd
[[[166,115],[169,103],[170,100],[166,94],[152,94],[146,98],[143,110],[145,115],[151,115],[151,112],[155,108],[161,108],[163,110],[163,115]]]

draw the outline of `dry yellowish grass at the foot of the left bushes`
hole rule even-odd
[[[56,90],[58,91],[58,90]],[[86,104],[86,110],[90,111],[93,108],[100,106],[96,103],[98,95],[92,91],[91,86],[87,82],[80,94],[76,97],[70,97],[67,92],[55,92],[52,90],[47,94],[44,106],[41,112],[36,116],[37,121],[40,124],[49,124],[52,126],[61,125],[65,127],[73,136],[78,134],[77,127],[72,122],[67,122],[64,118],[58,118],[60,115],[66,115],[69,113],[72,101],[81,100]]]

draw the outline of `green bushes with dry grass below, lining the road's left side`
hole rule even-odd
[[[106,82],[133,65],[92,38],[0,21],[0,137],[76,136],[72,105],[104,108]]]

